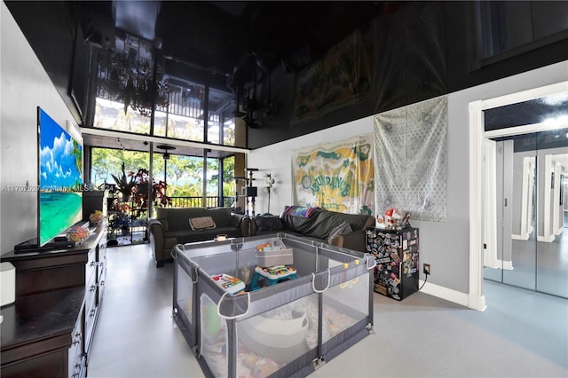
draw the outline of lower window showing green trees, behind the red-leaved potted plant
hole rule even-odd
[[[146,241],[147,220],[155,217],[156,207],[234,206],[233,156],[204,159],[154,153],[152,157],[150,161],[148,152],[91,148],[91,182],[108,194],[109,240]]]

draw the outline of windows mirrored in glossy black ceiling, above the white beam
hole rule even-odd
[[[168,75],[154,59],[152,44],[130,35],[100,51],[93,126],[235,146],[233,94]]]

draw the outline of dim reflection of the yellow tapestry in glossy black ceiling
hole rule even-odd
[[[372,94],[373,44],[370,29],[357,31],[296,75],[292,124],[312,121]]]

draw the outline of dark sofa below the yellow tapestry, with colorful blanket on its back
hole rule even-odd
[[[287,232],[331,246],[365,252],[365,229],[375,226],[375,217],[368,215],[312,209],[309,216],[307,214],[297,216],[286,214],[287,209],[288,206],[280,217],[256,216],[251,218],[250,234],[254,236]],[[342,224],[349,224],[349,227],[341,230]],[[332,234],[333,232],[335,233]]]

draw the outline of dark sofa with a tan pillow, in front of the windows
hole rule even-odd
[[[173,261],[170,252],[176,244],[213,240],[218,234],[229,238],[248,236],[248,216],[234,214],[231,208],[158,208],[156,215],[148,221],[148,230],[158,268]],[[211,217],[215,226],[192,229],[190,219],[202,217]]]

